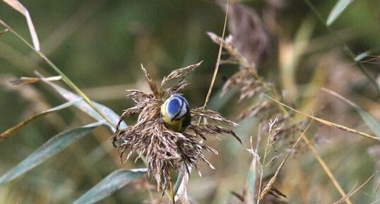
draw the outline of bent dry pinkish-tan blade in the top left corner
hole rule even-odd
[[[23,4],[21,4],[17,0],[3,0],[6,4],[11,6],[13,9],[16,11],[20,12],[23,14],[26,18],[26,22],[28,23],[28,28],[30,32],[30,36],[32,37],[32,42],[34,44],[34,47],[37,51],[40,51],[40,41],[38,40],[37,37],[37,32],[35,32],[35,26],[32,23],[32,18],[30,18],[30,14],[28,9],[26,9]]]

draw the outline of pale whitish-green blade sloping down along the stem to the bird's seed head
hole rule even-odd
[[[68,101],[78,100],[78,98],[81,98],[79,95],[76,95],[75,93],[70,92],[69,90],[61,88],[59,85],[56,85],[47,80],[44,80],[44,82],[50,85],[52,88],[54,88],[54,90],[56,90],[59,93],[59,95],[61,95]],[[93,102],[93,104],[112,121],[113,124],[109,124],[107,122],[107,126],[109,126],[109,128],[111,128],[112,131],[115,131],[114,124],[117,124],[117,122],[119,121],[119,115],[116,114],[112,109],[110,109],[109,107],[106,107],[103,104],[100,104],[97,102]],[[96,112],[95,109],[93,109],[93,107],[90,107],[90,105],[87,102],[81,101],[74,105],[78,107],[78,109],[81,109],[81,111],[88,114],[89,116],[92,116],[97,121],[104,120],[104,117],[100,115],[98,112]],[[126,127],[126,123],[123,121],[120,124],[120,128],[125,128],[125,127]]]

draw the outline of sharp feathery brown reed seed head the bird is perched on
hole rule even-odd
[[[126,109],[120,117],[119,124],[133,114],[138,114],[137,122],[133,126],[122,129],[119,129],[119,124],[117,124],[117,131],[112,136],[112,143],[115,148],[119,149],[121,160],[127,150],[129,152],[124,161],[128,160],[134,152],[138,152],[136,160],[141,155],[146,155],[148,176],[150,178],[155,177],[159,191],[167,189],[172,171],[176,170],[178,172],[182,163],[188,169],[188,172],[191,167],[194,167],[199,174],[199,169],[195,163],[197,160],[206,162],[213,168],[204,157],[203,150],[208,150],[215,154],[218,154],[218,152],[204,145],[200,141],[201,139],[206,140],[207,136],[217,137],[220,134],[227,133],[239,140],[234,131],[228,128],[216,124],[197,124],[198,120],[205,118],[217,123],[237,126],[234,122],[223,118],[218,112],[208,109],[191,109],[191,124],[182,133],[170,131],[163,125],[160,117],[162,103],[171,95],[178,94],[187,85],[184,78],[200,64],[201,62],[173,71],[169,76],[163,78],[160,88],[150,78],[146,69],[141,66],[148,80],[150,92],[129,90],[128,97],[136,104]],[[170,80],[174,80],[175,83],[168,87],[167,83]],[[240,140],[239,142],[241,143]]]

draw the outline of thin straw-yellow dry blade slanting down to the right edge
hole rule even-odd
[[[274,102],[276,102],[276,103],[282,105],[283,107],[287,107],[288,109],[291,109],[291,110],[294,111],[294,112],[297,112],[297,113],[299,113],[299,114],[302,114],[302,115],[304,115],[304,116],[307,116],[307,117],[309,117],[310,119],[314,119],[314,120],[316,120],[316,121],[319,121],[321,124],[325,124],[326,126],[331,126],[331,127],[334,127],[334,128],[338,128],[338,129],[343,130],[343,131],[348,131],[348,132],[350,132],[350,133],[354,133],[355,135],[363,136],[363,137],[365,137],[365,138],[371,138],[371,139],[378,140],[378,141],[380,140],[380,139],[377,138],[376,136],[371,136],[371,135],[369,135],[369,134],[367,134],[367,133],[362,133],[362,132],[357,131],[357,130],[355,130],[355,129],[348,128],[348,127],[346,127],[346,126],[342,126],[342,125],[340,125],[340,124],[335,124],[335,123],[333,123],[333,122],[331,122],[331,121],[326,121],[326,120],[323,120],[323,119],[317,118],[316,116],[311,116],[311,115],[309,115],[309,114],[305,114],[304,112],[300,112],[300,111],[298,111],[297,109],[294,109],[294,108],[292,108],[292,107],[289,107],[289,106],[287,106],[286,104],[284,104],[284,103],[282,103],[282,102],[279,102],[278,100],[273,99],[273,97],[270,97],[270,96],[268,96],[268,95],[266,95],[266,94],[263,94],[263,95],[265,95],[266,97],[270,98],[270,99],[273,100]]]

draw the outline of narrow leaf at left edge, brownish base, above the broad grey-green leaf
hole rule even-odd
[[[52,109],[47,109],[43,112],[40,112],[40,113],[37,113],[37,114],[34,114],[30,117],[28,117],[28,119],[20,122],[19,124],[17,124],[16,126],[13,126],[11,128],[8,128],[8,130],[4,131],[3,133],[0,134],[0,142],[6,140],[6,138],[8,138],[9,136],[13,135],[14,133],[16,133],[16,131],[20,130],[20,128],[23,128],[24,126],[30,124],[32,121],[35,121],[36,119],[39,119],[40,117],[46,115],[46,114],[49,114],[49,113],[52,113],[52,112],[57,112],[61,109],[65,109],[66,107],[70,107],[72,104],[75,104],[76,102],[80,101],[81,99],[78,99],[78,100],[73,100],[73,101],[70,101],[70,102],[66,102],[64,104],[61,104],[57,107],[54,107]]]

